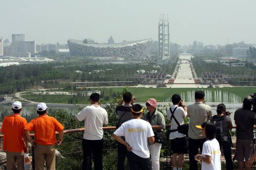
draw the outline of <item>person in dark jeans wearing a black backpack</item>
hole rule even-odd
[[[231,137],[229,130],[232,129],[231,118],[229,112],[226,112],[226,106],[221,103],[217,106],[217,115],[211,118],[211,122],[216,126],[216,139],[219,141],[220,150],[223,148],[226,160],[226,169],[233,170],[233,162],[231,157]]]

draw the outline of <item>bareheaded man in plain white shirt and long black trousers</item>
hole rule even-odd
[[[94,169],[102,170],[103,125],[108,124],[108,113],[99,106],[99,94],[90,96],[91,106],[81,110],[76,118],[84,120],[84,133],[82,139],[83,163],[82,169],[92,169],[91,154],[93,153]]]

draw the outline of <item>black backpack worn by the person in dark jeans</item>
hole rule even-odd
[[[216,139],[218,141],[227,141],[229,139],[229,128],[228,122],[225,120],[224,116],[213,116],[211,122],[216,126]]]

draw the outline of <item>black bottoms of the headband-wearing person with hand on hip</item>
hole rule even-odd
[[[152,170],[150,158],[141,158],[133,152],[127,153],[129,168],[132,170]]]

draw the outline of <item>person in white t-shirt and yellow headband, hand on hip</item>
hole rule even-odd
[[[133,105],[131,112],[133,119],[124,122],[112,137],[129,151],[127,158],[130,169],[152,169],[147,141],[154,143],[153,129],[150,123],[140,118],[143,114],[141,105]],[[125,141],[120,136],[124,136]]]

